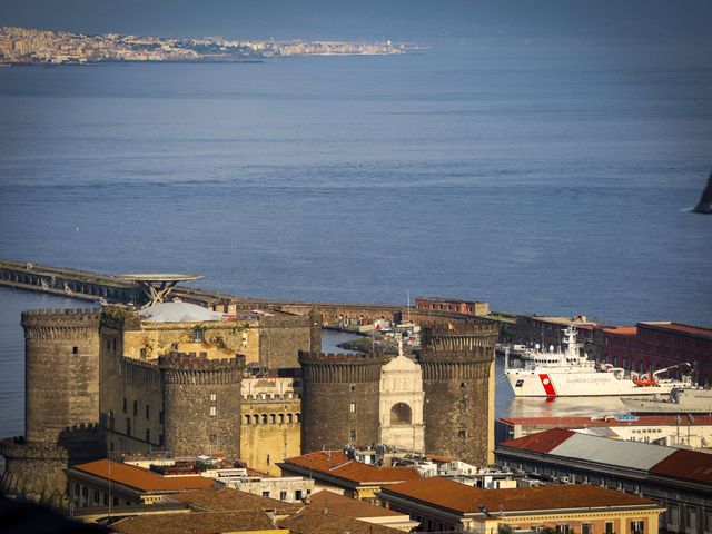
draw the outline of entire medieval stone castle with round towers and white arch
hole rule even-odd
[[[491,463],[496,325],[421,325],[423,348],[387,358],[323,354],[314,312],[23,313],[26,427],[0,442],[2,490],[59,505],[68,465],[161,451],[275,474],[289,456],[378,444]]]

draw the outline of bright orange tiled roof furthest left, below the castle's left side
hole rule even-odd
[[[77,471],[111,479],[141,492],[184,492],[212,487],[212,478],[202,476],[161,476],[144,467],[122,464],[110,459],[97,459],[88,464],[76,465]]]

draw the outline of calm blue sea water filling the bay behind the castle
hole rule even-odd
[[[712,216],[691,212],[712,169],[711,43],[2,68],[0,257],[712,326]],[[66,306],[85,304],[0,289],[0,436],[22,433],[20,312]],[[501,416],[592,406],[498,386]]]

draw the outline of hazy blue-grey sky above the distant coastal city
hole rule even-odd
[[[710,0],[1,0],[0,26],[275,39],[710,34]]]

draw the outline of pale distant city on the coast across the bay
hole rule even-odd
[[[405,44],[347,41],[259,41],[222,37],[174,39],[0,27],[6,63],[96,63],[101,61],[240,61],[287,56],[377,56],[403,53]]]

